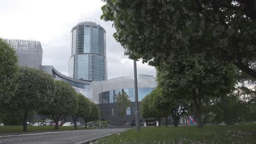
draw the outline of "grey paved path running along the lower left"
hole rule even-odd
[[[4,135],[0,136],[0,144],[84,143],[111,134],[120,133],[125,130],[127,130],[127,128],[55,131],[35,134]]]

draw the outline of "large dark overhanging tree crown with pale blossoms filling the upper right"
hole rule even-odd
[[[102,19],[126,55],[145,62],[185,54],[235,64],[256,78],[254,0],[104,0]],[[154,63],[155,64],[155,63]]]

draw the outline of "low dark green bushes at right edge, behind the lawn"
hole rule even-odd
[[[247,103],[235,94],[226,95],[210,105],[203,105],[203,122],[205,124],[252,123],[256,121],[256,105]]]

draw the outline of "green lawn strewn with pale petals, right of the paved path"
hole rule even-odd
[[[256,124],[133,128],[93,143],[256,143]]]

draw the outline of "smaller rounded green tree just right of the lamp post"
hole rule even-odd
[[[166,118],[171,115],[175,126],[188,109],[189,100],[175,99],[172,93],[164,91],[160,86],[156,87],[149,95],[146,95],[141,102],[141,111],[143,118]]]

